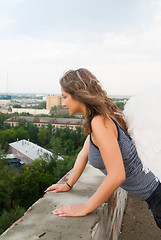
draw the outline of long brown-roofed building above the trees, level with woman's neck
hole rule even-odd
[[[47,127],[50,123],[54,127],[65,128],[69,127],[70,129],[75,130],[76,127],[83,125],[83,119],[78,118],[51,118],[51,117],[26,117],[26,116],[14,116],[5,120],[5,123],[10,124],[11,126],[17,126],[18,120],[24,119],[27,122],[31,122],[37,127]]]

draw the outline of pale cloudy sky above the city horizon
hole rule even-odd
[[[0,92],[60,93],[69,69],[109,95],[161,84],[161,0],[0,0]]]

